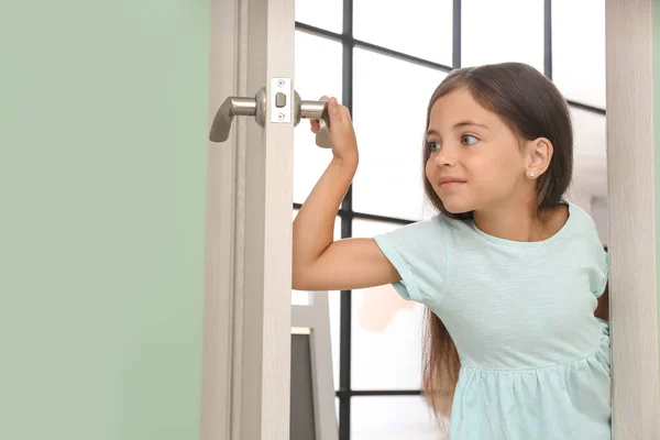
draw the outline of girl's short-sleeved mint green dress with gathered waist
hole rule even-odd
[[[406,299],[444,322],[461,359],[450,440],[610,439],[608,324],[594,317],[607,253],[591,217],[541,242],[437,216],[374,239]]]

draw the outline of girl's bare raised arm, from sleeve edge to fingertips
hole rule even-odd
[[[294,221],[293,288],[341,290],[394,283],[399,274],[373,239],[333,241],[337,210],[358,169],[349,110],[327,99],[332,161]],[[312,121],[312,131],[319,130]]]

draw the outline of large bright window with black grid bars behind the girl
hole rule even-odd
[[[336,237],[372,237],[429,218],[421,131],[431,92],[452,68],[516,61],[553,79],[569,100],[575,154],[569,196],[605,240],[604,0],[579,3],[297,1],[296,90],[304,99],[336,96],[351,110],[359,136],[360,168]],[[294,209],[328,153],[316,147],[308,127],[296,130]],[[384,286],[331,295],[330,309],[340,440],[433,438],[420,397],[422,307]]]

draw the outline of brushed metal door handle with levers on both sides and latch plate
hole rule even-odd
[[[277,79],[282,84],[282,79]],[[275,82],[274,82],[275,84]],[[273,99],[270,105],[272,122],[294,122],[294,127],[300,123],[301,118],[318,119],[321,130],[316,135],[316,144],[323,148],[331,147],[328,129],[330,127],[330,117],[328,116],[328,105],[324,101],[304,101],[297,91],[294,90],[293,102],[287,102],[286,90],[277,91],[273,89]],[[266,88],[258,89],[254,98],[229,97],[222,102],[220,109],[213,118],[209,140],[211,142],[224,142],[229,138],[231,122],[234,117],[254,117],[257,124],[266,124]],[[292,114],[293,113],[293,114]]]

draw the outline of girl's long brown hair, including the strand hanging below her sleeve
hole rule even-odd
[[[571,116],[557,87],[534,67],[520,63],[454,69],[433,92],[427,110],[422,154],[424,187],[431,204],[450,218],[473,218],[472,211],[447,211],[426,177],[426,164],[431,155],[426,142],[431,108],[440,97],[458,89],[468,89],[483,108],[498,114],[520,140],[547,138],[552,143],[550,165],[537,179],[536,209],[540,213],[560,204],[573,174]],[[440,419],[451,411],[461,361],[444,323],[429,308],[426,315],[422,388],[427,402]]]

